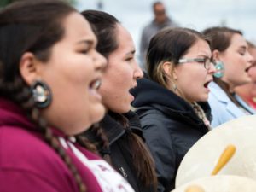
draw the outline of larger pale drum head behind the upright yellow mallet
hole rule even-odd
[[[177,171],[176,187],[209,177],[229,144],[236,146],[236,152],[218,175],[237,175],[256,181],[256,115],[248,115],[219,125],[201,137],[184,156]]]

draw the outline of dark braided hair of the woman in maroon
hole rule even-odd
[[[19,70],[20,58],[25,52],[32,52],[38,60],[49,60],[50,48],[64,35],[61,20],[73,12],[76,10],[58,0],[20,1],[1,10],[0,96],[25,110],[28,118],[38,125],[38,131],[44,135],[45,141],[72,172],[79,191],[85,192],[86,187],[77,168],[35,107],[31,88],[21,78]]]

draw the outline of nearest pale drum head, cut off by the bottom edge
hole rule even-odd
[[[190,189],[189,189],[190,188]],[[247,177],[217,175],[185,183],[172,192],[254,192],[256,182]]]

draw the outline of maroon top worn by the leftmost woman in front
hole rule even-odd
[[[57,136],[61,132],[55,131]],[[65,137],[64,137],[65,138]],[[96,154],[73,143],[88,160]],[[91,170],[67,149],[87,192],[102,192]],[[14,103],[0,98],[0,191],[79,192],[72,173],[55,150],[44,142],[35,125]]]

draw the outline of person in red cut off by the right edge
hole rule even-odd
[[[241,96],[247,104],[256,109],[256,46],[248,41],[247,44],[249,53],[253,55],[253,65],[248,71],[252,82],[236,87],[235,92],[238,96]]]

